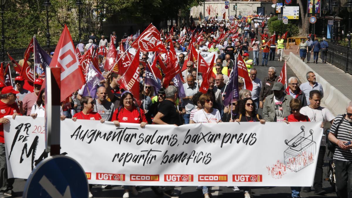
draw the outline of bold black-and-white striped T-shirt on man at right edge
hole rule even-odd
[[[344,119],[344,121],[339,126],[336,138],[341,141],[352,141],[352,123],[348,122],[346,118],[342,118],[342,115],[338,115],[334,119],[334,122],[330,128],[330,132],[335,135],[337,125],[340,123],[341,119]],[[336,146],[333,159],[341,161],[352,161],[352,149],[342,150],[339,146]]]

